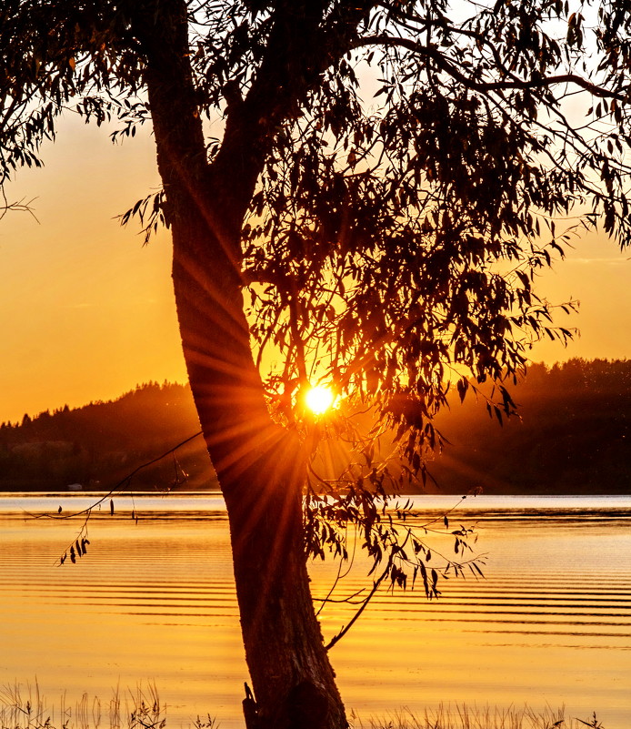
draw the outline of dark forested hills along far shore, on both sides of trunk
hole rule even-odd
[[[429,464],[440,491],[631,493],[631,360],[532,365],[500,427],[471,393],[438,422],[450,441]],[[0,490],[110,489],[199,430],[188,387],[149,383],[118,400],[0,427]],[[215,489],[201,438],[135,474],[132,489]],[[428,485],[428,490],[436,491]]]

